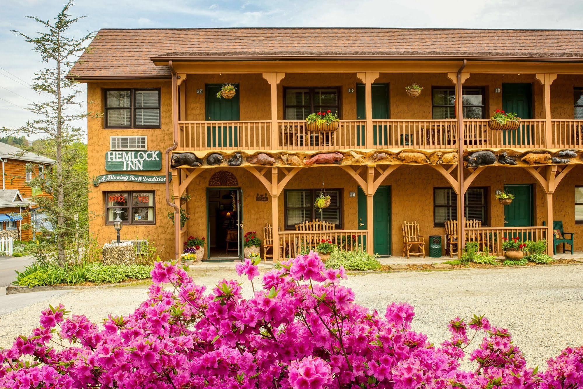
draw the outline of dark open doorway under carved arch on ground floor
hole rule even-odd
[[[241,241],[241,189],[207,189],[208,258],[238,259],[243,248]]]

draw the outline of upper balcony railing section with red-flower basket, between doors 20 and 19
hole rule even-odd
[[[365,120],[340,120],[338,130],[308,131],[304,120],[281,120],[279,144],[285,150],[365,148],[365,124]]]

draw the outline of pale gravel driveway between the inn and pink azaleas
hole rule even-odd
[[[196,271],[194,276],[211,287],[223,278],[238,278],[234,270],[226,269]],[[240,280],[250,296],[249,282]],[[583,345],[582,280],[583,266],[573,265],[350,275],[343,284],[354,289],[359,303],[383,313],[392,301],[414,305],[413,329],[436,344],[448,336],[449,319],[486,314],[492,324],[510,328],[529,366],[540,364],[544,369],[545,358],[566,346]],[[47,296],[41,303],[0,316],[0,346],[29,334],[48,304],[63,303],[72,313],[101,321],[110,312],[132,311],[145,298],[146,287],[103,287]]]

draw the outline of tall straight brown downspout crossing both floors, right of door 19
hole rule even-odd
[[[459,211],[458,214],[458,258],[462,255],[462,250],[466,245],[466,223],[465,223],[465,191],[463,190],[463,103],[462,103],[462,71],[466,67],[466,60],[463,60],[458,70],[457,91],[455,93],[458,102],[458,183],[459,183]]]

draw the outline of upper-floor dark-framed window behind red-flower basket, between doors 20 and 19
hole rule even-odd
[[[340,117],[338,88],[285,88],[286,120],[304,120],[310,113],[331,110]]]

